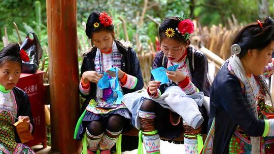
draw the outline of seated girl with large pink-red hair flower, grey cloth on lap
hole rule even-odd
[[[131,107],[132,123],[141,129],[139,140],[143,138],[147,153],[160,153],[160,136],[173,139],[182,132],[186,153],[198,153],[198,148],[202,148],[201,124],[205,124],[204,133],[207,128],[202,92],[208,96],[210,84],[207,58],[190,46],[189,36],[193,30],[191,20],[179,17],[166,18],[159,27],[161,51],[155,56],[152,73],[159,67],[179,67],[176,71],[165,70],[168,83],[154,81],[151,76],[149,97],[135,99]],[[124,98],[130,99],[129,95]],[[177,113],[184,115],[183,120]],[[142,153],[142,148],[139,150]]]

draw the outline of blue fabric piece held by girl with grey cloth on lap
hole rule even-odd
[[[167,82],[169,82],[169,79],[167,78],[165,70],[176,71],[178,66],[179,65],[177,64],[174,66],[169,66],[168,68],[158,67],[158,68],[152,69],[151,73],[152,73],[155,81],[161,82],[161,85],[166,84]]]

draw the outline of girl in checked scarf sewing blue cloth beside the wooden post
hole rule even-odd
[[[86,100],[75,138],[84,138],[83,152],[88,146],[88,153],[97,150],[110,153],[122,130],[130,127],[131,119],[124,103],[117,103],[121,93],[114,87],[118,86],[124,94],[142,89],[141,68],[133,49],[115,40],[112,18],[107,13],[92,12],[87,20],[86,34],[94,46],[85,55],[81,67],[79,88]],[[100,89],[115,78],[119,79],[118,84]],[[105,82],[98,82],[100,79]],[[85,145],[86,141],[88,145]]]

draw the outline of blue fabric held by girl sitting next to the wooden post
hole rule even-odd
[[[123,93],[120,91],[120,85],[119,85],[119,81],[118,81],[119,68],[112,67],[109,70],[115,72],[115,77],[109,78],[110,75],[107,72],[104,72],[104,75],[98,81],[98,87],[100,89],[106,89],[106,88],[109,88],[109,86],[111,86],[113,93],[116,93],[118,96],[116,99],[116,102],[114,104],[121,104],[122,98],[123,98]]]

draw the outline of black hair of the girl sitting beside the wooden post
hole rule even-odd
[[[86,24],[86,35],[88,38],[91,38],[91,35],[93,32],[98,32],[101,30],[107,30],[109,32],[114,32],[114,25],[111,24],[110,26],[105,27],[100,23],[99,20],[100,13],[99,12],[92,12],[88,19]],[[94,23],[98,23],[98,27],[94,27]]]

